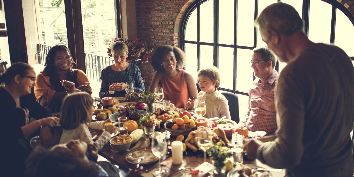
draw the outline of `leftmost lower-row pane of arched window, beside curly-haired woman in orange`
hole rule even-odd
[[[198,81],[198,57],[197,57],[197,45],[185,44],[185,71],[192,74],[195,81]]]

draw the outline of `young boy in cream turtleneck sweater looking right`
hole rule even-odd
[[[205,118],[223,117],[231,119],[228,101],[217,88],[220,85],[220,74],[218,68],[213,66],[210,68],[203,68],[198,72],[199,88],[197,101],[204,100],[206,106]],[[194,106],[194,100],[188,99],[185,103],[188,109]]]

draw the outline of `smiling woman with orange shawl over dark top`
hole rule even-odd
[[[59,112],[63,98],[68,93],[92,94],[89,78],[75,64],[70,50],[65,45],[53,46],[47,54],[43,72],[36,78],[34,94],[37,101],[51,113]]]

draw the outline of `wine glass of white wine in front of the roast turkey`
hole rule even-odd
[[[210,148],[210,145],[213,142],[210,132],[210,128],[200,126],[198,127],[198,135],[195,138],[199,148],[204,151],[204,162],[206,161],[206,150]]]

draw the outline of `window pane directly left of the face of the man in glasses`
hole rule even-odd
[[[236,50],[236,90],[247,92],[253,81],[253,70],[250,65],[253,51],[247,49]]]

